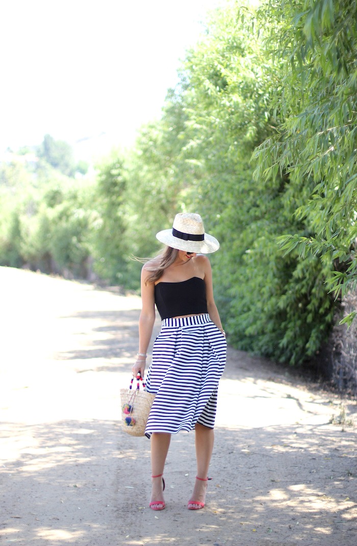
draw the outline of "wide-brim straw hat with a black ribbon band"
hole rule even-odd
[[[192,212],[176,214],[172,229],[157,233],[156,239],[171,248],[186,252],[209,254],[219,248],[217,239],[205,233],[200,215]]]

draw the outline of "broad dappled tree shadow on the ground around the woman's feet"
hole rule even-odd
[[[4,424],[2,436],[6,430]],[[2,472],[4,542],[156,545],[176,539],[193,544],[196,537],[200,545],[243,540],[286,546],[332,545],[336,536],[343,546],[355,544],[352,432],[340,432],[336,441],[334,430],[318,426],[304,432],[299,425],[218,428],[207,505],[196,513],[186,509],[194,479],[192,433],[172,440],[167,508],[160,513],[148,508],[146,438],[130,437],[117,422],[102,420],[19,425],[18,434],[19,441],[26,435],[27,447]],[[180,537],[172,533],[176,519],[185,521]]]

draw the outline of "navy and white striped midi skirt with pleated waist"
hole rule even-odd
[[[215,425],[227,342],[209,314],[166,318],[154,341],[146,390],[156,393],[145,435]]]

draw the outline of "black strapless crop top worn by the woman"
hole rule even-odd
[[[162,320],[207,313],[205,281],[191,277],[182,282],[159,282],[155,285],[155,303]]]

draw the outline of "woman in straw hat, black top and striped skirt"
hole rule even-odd
[[[205,506],[218,381],[227,351],[210,261],[202,254],[218,250],[219,242],[192,213],[177,214],[172,229],[156,237],[166,249],[141,271],[139,352],[132,368],[134,376],[144,377],[156,304],[162,329],[146,377],[147,390],[156,393],[145,431],[151,438],[150,507],[165,508],[162,476],[171,434],[194,429],[197,478],[188,509],[198,510]]]

